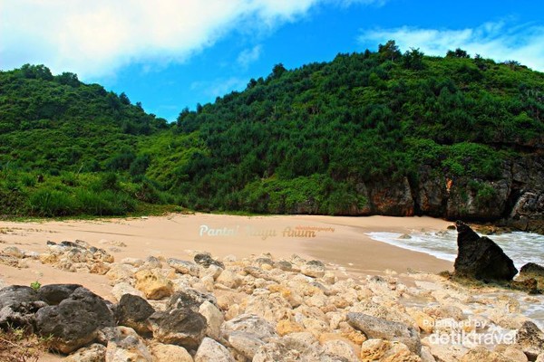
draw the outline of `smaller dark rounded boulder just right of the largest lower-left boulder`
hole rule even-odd
[[[151,304],[143,298],[124,294],[119,300],[116,310],[117,323],[120,326],[130,327],[140,334],[151,332],[148,318],[155,310]]]

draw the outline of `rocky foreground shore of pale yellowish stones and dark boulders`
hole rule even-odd
[[[187,252],[115,262],[83,241],[6,248],[19,267],[103,274],[115,300],[78,284],[7,286],[0,326],[52,336],[68,361],[544,360],[544,333],[521,313],[535,296],[420,272],[349,278],[297,255]]]

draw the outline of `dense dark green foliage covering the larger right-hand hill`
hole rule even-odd
[[[541,147],[543,90],[544,74],[517,64],[461,50],[402,55],[394,43],[294,71],[280,64],[180,113],[175,130],[198,130],[209,156],[192,159],[175,190],[210,209],[344,214],[365,204],[361,183],[417,179],[423,165],[496,180],[505,159]]]

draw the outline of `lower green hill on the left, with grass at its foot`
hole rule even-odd
[[[137,145],[166,129],[165,119],[123,93],[83,84],[73,73],[53,76],[28,64],[0,72],[0,214],[136,210],[139,199],[151,198],[149,189],[156,192],[142,176],[150,157],[137,156]]]

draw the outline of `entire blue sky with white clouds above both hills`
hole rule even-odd
[[[174,121],[274,65],[461,48],[544,71],[541,0],[0,0],[0,70],[44,64]]]

